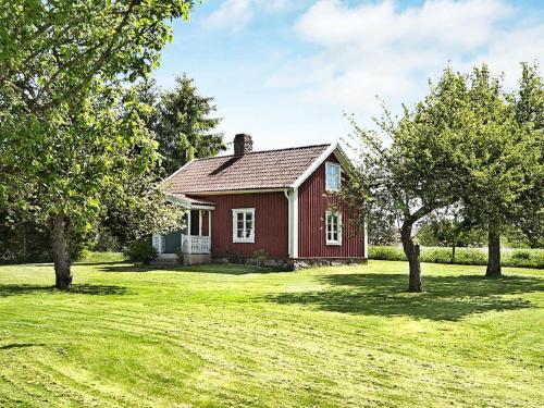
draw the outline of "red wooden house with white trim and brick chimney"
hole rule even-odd
[[[337,144],[252,151],[249,135],[234,154],[193,160],[166,178],[170,199],[185,209],[185,227],[154,235],[160,258],[183,263],[267,258],[270,263],[362,261],[367,237],[349,211],[329,208],[348,164]]]

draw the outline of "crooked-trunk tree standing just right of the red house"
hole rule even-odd
[[[400,221],[400,239],[409,262],[410,292],[421,292],[415,224],[459,200],[458,158],[462,154],[467,111],[462,75],[445,70],[430,94],[399,120],[386,110],[378,131],[351,120],[359,165],[349,170],[341,201],[359,210],[359,225],[371,231],[384,219]]]

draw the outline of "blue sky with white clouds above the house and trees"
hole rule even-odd
[[[544,64],[544,0],[206,0],[173,28],[158,84],[186,73],[255,150],[336,141],[345,114],[371,127],[448,65],[486,62],[512,89],[521,61]]]

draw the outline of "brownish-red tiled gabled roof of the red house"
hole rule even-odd
[[[197,159],[165,180],[166,191],[190,195],[289,188],[336,149],[336,144],[317,145]]]

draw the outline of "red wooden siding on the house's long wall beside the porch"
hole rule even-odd
[[[232,194],[200,197],[217,205],[211,217],[211,247],[218,256],[250,257],[264,250],[272,258],[288,257],[288,202],[283,193]],[[255,208],[255,243],[233,243],[233,209]]]

